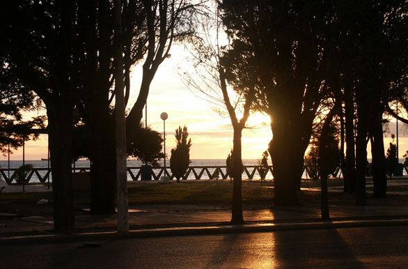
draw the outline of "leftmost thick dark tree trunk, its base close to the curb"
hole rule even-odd
[[[54,194],[54,231],[74,231],[72,199],[72,103],[61,100],[47,106],[49,151]]]

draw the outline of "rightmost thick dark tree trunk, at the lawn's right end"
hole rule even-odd
[[[375,100],[375,107],[372,109],[370,124],[372,144],[372,183],[374,184],[374,197],[386,197],[386,160],[384,155],[384,137],[382,132],[382,114],[384,107],[379,98]]]

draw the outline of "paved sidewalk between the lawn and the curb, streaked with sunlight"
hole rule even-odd
[[[318,191],[316,188],[308,191]],[[330,192],[338,192],[333,187]],[[388,192],[406,195],[407,192]],[[407,196],[408,198],[408,196]],[[408,199],[407,199],[408,201]],[[380,203],[381,204],[381,203]],[[130,233],[127,237],[176,236],[187,234],[276,231],[278,229],[322,229],[343,226],[408,225],[408,203],[405,206],[329,206],[330,222],[320,220],[320,205],[276,207],[243,210],[244,225],[229,224],[230,208],[193,205],[131,206]],[[116,233],[116,214],[89,215],[77,212],[71,240],[110,238]],[[10,240],[58,241],[52,217],[8,215],[0,213],[0,242]],[[54,238],[54,239],[53,239]],[[67,240],[67,235],[63,236]]]

